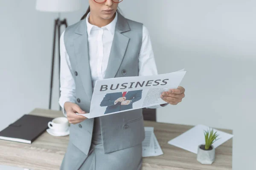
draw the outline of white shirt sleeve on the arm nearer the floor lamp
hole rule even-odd
[[[65,31],[64,31],[65,32]],[[67,117],[64,109],[65,102],[76,101],[76,85],[71,73],[70,59],[64,44],[64,32],[60,37],[60,91],[59,105],[63,108],[64,116]]]

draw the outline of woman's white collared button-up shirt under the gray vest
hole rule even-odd
[[[117,15],[114,20],[107,26],[99,28],[89,23],[90,13],[86,17],[87,23],[87,35],[88,35],[88,50],[89,61],[91,68],[91,78],[93,81],[93,87],[96,80],[104,79],[106,68],[108,65],[108,59],[111,51],[111,45],[113,36],[115,33]],[[64,45],[64,32],[60,38],[60,54],[61,54],[61,66],[60,66],[60,90],[61,96],[59,98],[59,104],[64,108],[65,102],[76,101],[76,85],[71,74],[70,59],[67,54]],[[157,67],[154,59],[154,53],[151,46],[151,40],[148,33],[148,29],[143,26],[143,40],[139,54],[139,76],[157,75]],[[152,106],[150,108],[158,108]]]

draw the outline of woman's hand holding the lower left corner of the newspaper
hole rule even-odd
[[[72,103],[72,102],[65,102],[64,103],[64,109],[67,113],[67,119],[68,122],[72,124],[77,124],[80,122],[83,122],[85,119],[87,119],[85,116],[78,115],[86,113],[85,111],[82,111],[82,109],[79,107],[79,105]]]

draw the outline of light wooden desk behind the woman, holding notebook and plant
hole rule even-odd
[[[58,117],[61,111],[35,109],[30,114]],[[153,126],[163,155],[143,158],[143,170],[232,170],[232,139],[216,148],[216,159],[211,165],[200,164],[196,154],[172,146],[167,142],[192,126],[145,121]],[[223,130],[223,129],[219,129]],[[223,130],[232,133],[232,130]],[[0,164],[32,170],[58,170],[66,152],[69,136],[55,137],[47,132],[32,144],[0,140]]]

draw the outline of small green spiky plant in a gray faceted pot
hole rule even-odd
[[[198,146],[197,161],[201,164],[212,164],[215,161],[215,147],[212,145],[218,134],[213,133],[213,129],[204,130],[205,144]]]

